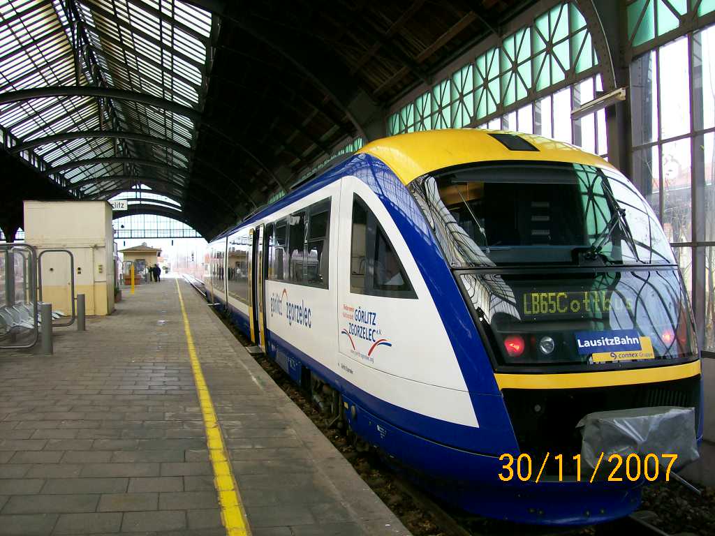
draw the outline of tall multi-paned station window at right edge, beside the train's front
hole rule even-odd
[[[715,26],[661,43],[653,39],[631,63],[633,182],[663,224],[693,302],[702,348],[712,355]]]

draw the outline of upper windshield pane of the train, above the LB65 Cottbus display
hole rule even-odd
[[[675,264],[659,222],[615,172],[487,164],[410,185],[453,267]]]

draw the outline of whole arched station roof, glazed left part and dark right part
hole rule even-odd
[[[69,199],[210,238],[529,4],[0,0],[0,142]]]

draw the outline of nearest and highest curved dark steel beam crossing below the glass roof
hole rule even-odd
[[[98,86],[46,86],[32,89],[19,89],[0,94],[0,104],[9,102],[29,101],[32,99],[44,99],[51,96],[97,96],[104,99],[117,99],[122,101],[133,101],[155,106],[174,114],[180,114],[198,123],[201,121],[201,114],[177,102],[161,99],[158,96],[139,93],[138,91],[127,91],[124,89],[114,89],[110,87]]]

